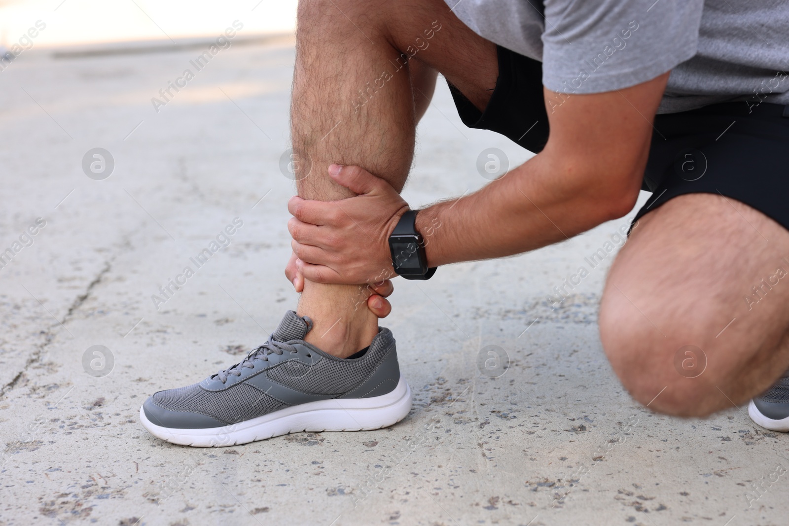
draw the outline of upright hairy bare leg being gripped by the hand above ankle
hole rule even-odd
[[[418,117],[432,95],[431,69],[482,108],[498,75],[495,46],[443,0],[301,0],[291,137],[297,155],[309,160],[297,169],[297,178],[304,177],[299,196],[349,196],[329,177],[333,163],[361,166],[402,189]],[[359,233],[360,257],[366,237]],[[315,322],[307,341],[335,356],[369,345],[378,319],[366,308],[366,290],[305,282],[298,314]]]

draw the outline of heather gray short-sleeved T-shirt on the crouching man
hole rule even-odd
[[[600,93],[671,69],[658,113],[789,104],[789,0],[446,0],[478,35],[543,63],[543,84]]]

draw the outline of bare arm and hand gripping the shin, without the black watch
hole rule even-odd
[[[549,112],[540,154],[471,196],[417,215],[431,267],[511,256],[563,241],[634,206],[668,73],[622,90],[565,96]],[[559,96],[545,90],[546,100]],[[363,283],[391,274],[387,238],[408,204],[359,166],[335,166],[334,181],[354,196],[327,203],[291,198],[297,267],[320,283]],[[366,234],[372,244],[361,240]],[[360,243],[368,257],[360,258]],[[300,263],[301,262],[301,263]]]

